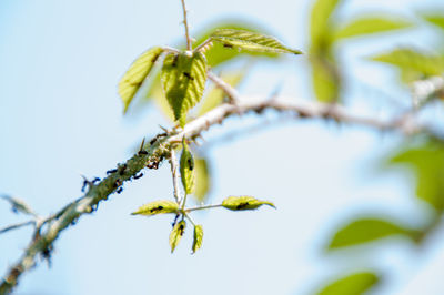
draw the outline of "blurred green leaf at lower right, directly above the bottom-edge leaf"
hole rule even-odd
[[[331,240],[327,250],[355,246],[375,240],[404,235],[414,238],[414,231],[383,218],[359,218],[339,230]]]

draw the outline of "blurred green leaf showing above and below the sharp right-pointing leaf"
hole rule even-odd
[[[226,20],[214,23],[212,26],[206,26],[205,30],[201,33],[196,34],[195,44],[200,44],[204,42],[210,35],[218,29],[234,29],[234,30],[246,30],[251,32],[258,32],[263,34],[270,34],[270,32],[259,24],[255,23],[246,23],[242,20]],[[226,50],[221,43],[214,43],[209,50],[205,51],[205,57],[210,67],[214,68],[221,63],[230,61],[239,55],[244,55],[244,52],[239,52],[236,50]],[[255,52],[250,53],[249,55],[256,57],[265,57],[265,58],[278,58],[276,53],[264,53],[264,52]]]

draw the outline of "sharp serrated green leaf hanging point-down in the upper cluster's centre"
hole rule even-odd
[[[163,61],[161,80],[174,119],[184,126],[186,112],[201,100],[205,88],[205,57],[200,52],[191,57],[186,53],[168,54]]]

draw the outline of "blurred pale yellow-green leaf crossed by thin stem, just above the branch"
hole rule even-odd
[[[235,88],[244,77],[245,71],[235,71],[232,73],[221,74],[221,79],[233,88]],[[203,100],[202,105],[199,109],[198,115],[201,116],[202,114],[211,111],[212,109],[221,104],[226,94],[222,89],[213,87]]]

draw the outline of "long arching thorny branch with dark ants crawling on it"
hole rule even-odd
[[[0,285],[0,294],[9,294],[18,284],[20,276],[36,266],[36,258],[39,254],[43,257],[50,256],[53,243],[61,232],[74,224],[82,215],[94,212],[99,203],[108,200],[109,195],[120,192],[124,182],[138,179],[138,173],[144,167],[157,169],[165,157],[170,156],[174,144],[180,144],[183,138],[194,139],[212,125],[222,123],[232,114],[242,115],[249,112],[261,114],[265,110],[275,110],[293,113],[300,119],[333,119],[337,122],[364,125],[381,131],[392,130],[405,134],[417,132],[432,133],[425,126],[415,124],[412,116],[380,120],[355,115],[337,104],[295,100],[286,102],[282,98],[252,101],[249,98],[241,99],[239,93],[232,88],[230,88],[230,91],[231,95],[239,102],[238,104],[223,103],[191,121],[183,129],[176,129],[167,134],[163,133],[161,136],[153,138],[150,141],[152,144],[148,149],[139,151],[125,163],[118,164],[117,169],[108,171],[109,175],[102,181],[98,183],[91,182],[88,186],[88,192],[83,196],[68,204],[39,224],[28,247],[24,250],[23,256],[3,277],[3,282]]]

